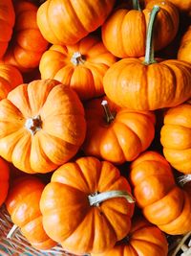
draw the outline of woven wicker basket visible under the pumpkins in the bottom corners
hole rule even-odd
[[[50,250],[40,251],[32,247],[31,244],[16,230],[11,239],[7,238],[13,223],[5,206],[0,209],[0,256],[76,256],[63,250],[60,245]],[[191,232],[185,236],[167,236],[169,243],[168,256],[191,256]],[[6,252],[5,252],[6,251]],[[83,256],[90,256],[88,254]],[[148,255],[152,256],[152,255]]]

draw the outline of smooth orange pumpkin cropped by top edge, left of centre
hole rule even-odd
[[[37,24],[52,44],[74,44],[103,24],[115,2],[48,0],[38,9]]]

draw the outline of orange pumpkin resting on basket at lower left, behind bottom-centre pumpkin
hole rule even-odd
[[[36,249],[49,249],[56,244],[42,225],[39,201],[44,187],[45,184],[34,176],[19,177],[12,182],[6,200],[11,221]]]

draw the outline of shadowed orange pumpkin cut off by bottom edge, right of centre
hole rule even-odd
[[[159,228],[142,217],[135,217],[131,230],[114,248],[92,256],[167,256],[168,244]]]

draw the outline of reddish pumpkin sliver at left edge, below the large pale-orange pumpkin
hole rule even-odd
[[[0,206],[4,203],[8,195],[10,186],[10,167],[9,164],[0,157]]]

